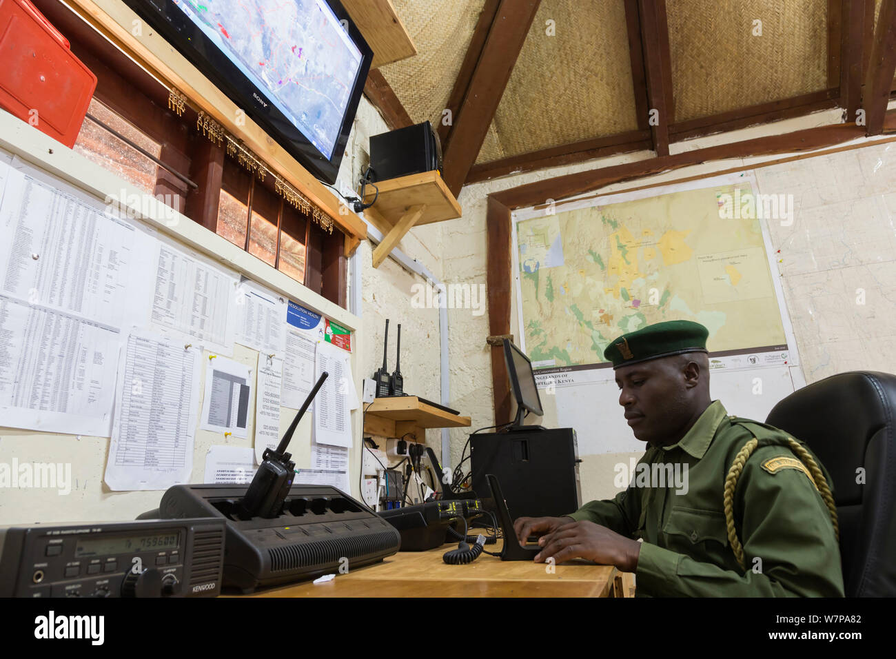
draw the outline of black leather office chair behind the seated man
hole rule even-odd
[[[847,597],[896,596],[896,376],[826,377],[780,401],[766,423],[806,442],[831,474]]]

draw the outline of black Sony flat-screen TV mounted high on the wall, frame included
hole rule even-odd
[[[336,180],[373,59],[338,0],[125,0],[317,178]]]

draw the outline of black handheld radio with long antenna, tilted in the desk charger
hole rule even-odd
[[[239,515],[245,519],[252,517],[264,517],[272,519],[280,516],[283,509],[283,499],[289,494],[289,488],[292,487],[293,478],[296,475],[296,463],[292,462],[292,455],[286,452],[289,447],[289,440],[296,432],[298,421],[305,415],[308,406],[314,400],[314,396],[323,386],[323,381],[329,374],[326,371],[321,373],[321,377],[317,380],[311,393],[302,403],[302,408],[296,414],[296,418],[289,424],[289,428],[280,439],[277,448],[271,451],[265,448],[262,454],[262,464],[255,472],[246,495],[238,504]]]

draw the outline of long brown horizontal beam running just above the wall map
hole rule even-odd
[[[660,174],[691,165],[699,165],[704,162],[774,155],[776,153],[809,152],[823,149],[833,144],[848,142],[864,134],[865,128],[855,124],[835,124],[833,126],[806,128],[792,133],[767,135],[741,142],[719,144],[705,149],[676,153],[675,155],[626,162],[621,165],[548,178],[524,186],[495,192],[490,196],[495,197],[496,202],[504,204],[508,208],[525,208],[536,204],[544,204],[547,198],[559,201],[574,195],[593,192],[614,183]]]

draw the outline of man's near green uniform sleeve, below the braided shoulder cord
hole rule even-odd
[[[777,447],[760,448],[737,481],[735,518],[743,511],[738,537],[745,572],[644,542],[638,589],[673,597],[842,597],[840,549],[828,508],[805,473],[762,469],[774,455],[792,456]]]

